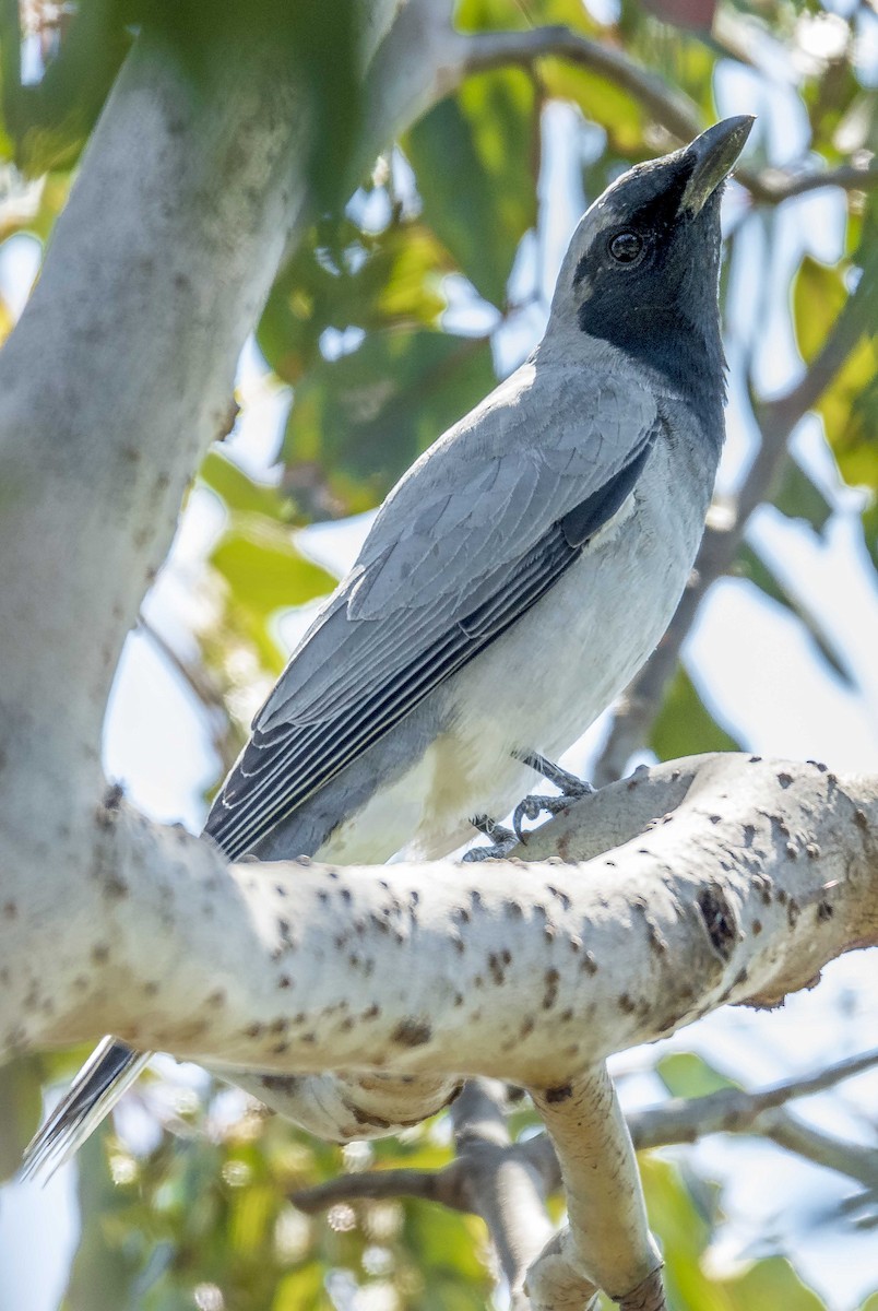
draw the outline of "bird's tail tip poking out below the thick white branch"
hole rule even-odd
[[[144,1068],[151,1051],[132,1051],[118,1038],[102,1038],[68,1092],[25,1148],[22,1179],[51,1179],[77,1151]]]

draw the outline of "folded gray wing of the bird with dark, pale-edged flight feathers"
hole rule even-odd
[[[444,434],[256,716],[204,829],[229,859],[535,604],[628,498],[657,431],[630,379],[528,364]]]

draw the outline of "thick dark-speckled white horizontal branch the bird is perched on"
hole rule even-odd
[[[229,1070],[552,1088],[878,936],[878,785],[810,764],[658,767],[553,825],[557,864],[480,876],[224,867],[107,802],[68,814],[48,865],[4,817],[7,1047],[115,1032]]]

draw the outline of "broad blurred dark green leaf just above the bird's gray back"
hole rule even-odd
[[[482,340],[422,329],[375,333],[301,380],[283,458],[317,469],[347,513],[370,509],[493,385]]]

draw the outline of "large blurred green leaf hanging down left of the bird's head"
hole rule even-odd
[[[493,304],[506,303],[515,252],[536,223],[539,104],[520,69],[478,73],[404,140],[423,220]]]

